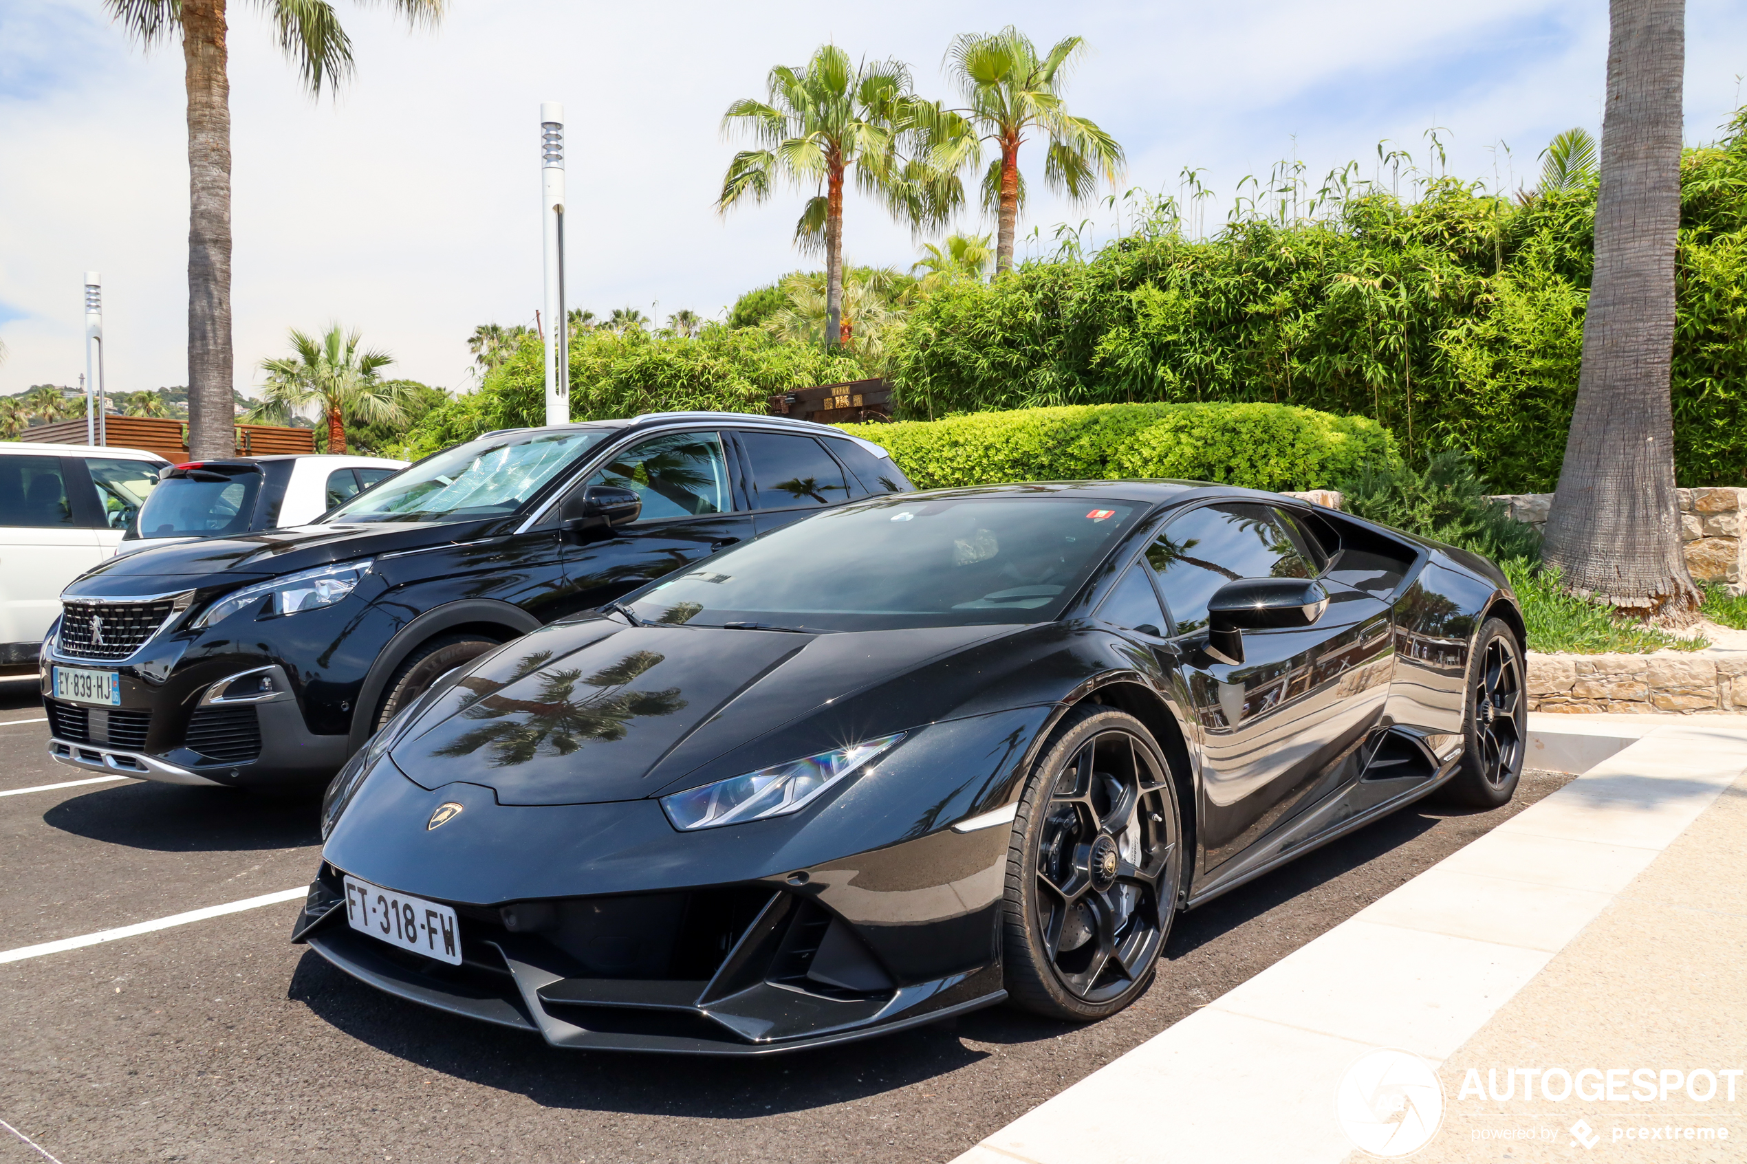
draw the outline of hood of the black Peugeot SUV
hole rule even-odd
[[[498,522],[297,525],[234,537],[164,539],[164,544],[150,544],[157,539],[147,539],[140,550],[112,557],[82,574],[66,593],[126,593],[122,579],[135,576],[201,578],[199,585],[218,585],[225,579],[213,574],[231,571],[250,578],[288,574],[372,553],[468,541]]]

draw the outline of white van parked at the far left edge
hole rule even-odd
[[[166,468],[138,448],[0,442],[0,670],[37,665],[61,590],[115,553]]]

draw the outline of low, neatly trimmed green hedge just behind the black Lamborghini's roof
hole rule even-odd
[[[887,448],[917,489],[1130,476],[1321,489],[1399,462],[1375,421],[1289,405],[1078,405],[840,428]]]

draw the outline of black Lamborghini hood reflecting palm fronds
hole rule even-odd
[[[797,635],[559,623],[473,667],[418,716],[391,757],[425,789],[480,784],[500,805],[641,799],[688,787],[688,773],[749,740],[1013,630]],[[767,763],[807,754],[769,749]]]

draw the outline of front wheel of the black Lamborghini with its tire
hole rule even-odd
[[[1008,1002],[1085,1023],[1139,998],[1176,916],[1181,836],[1170,764],[1146,726],[1095,703],[1069,712],[1013,818]]]

